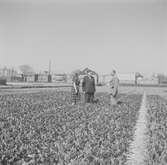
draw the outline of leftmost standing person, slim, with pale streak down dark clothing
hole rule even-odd
[[[80,100],[79,85],[80,85],[79,75],[78,73],[74,73],[72,78],[72,88],[71,88],[72,105],[75,105]]]

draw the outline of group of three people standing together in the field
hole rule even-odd
[[[82,86],[82,91],[84,92],[84,102],[93,103],[94,95],[96,92],[96,85],[95,85],[95,79],[91,71],[86,72],[86,76],[84,76],[81,86]],[[118,86],[119,86],[119,79],[117,77],[116,71],[113,70],[111,72],[111,80],[109,81],[109,95],[110,95],[111,105],[117,104],[116,97],[118,94]],[[71,98],[72,98],[72,105],[75,105],[81,99],[80,79],[79,79],[79,74],[77,72],[73,75],[72,79]]]

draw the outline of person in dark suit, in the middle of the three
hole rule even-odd
[[[85,95],[85,103],[93,103],[94,102],[94,94],[96,91],[95,87],[95,79],[92,76],[90,71],[87,71],[87,75],[83,78],[82,82],[82,90]]]

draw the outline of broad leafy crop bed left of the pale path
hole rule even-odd
[[[2,164],[125,163],[141,95],[115,108],[105,93],[96,98],[97,104],[71,106],[68,91],[1,95]]]

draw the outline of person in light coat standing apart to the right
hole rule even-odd
[[[111,105],[116,105],[116,97],[118,95],[118,87],[119,87],[119,79],[117,77],[116,71],[113,70],[111,72],[111,80],[109,82],[109,88],[110,88],[110,104]]]

